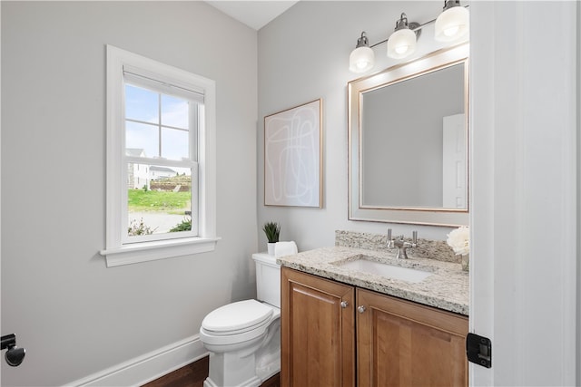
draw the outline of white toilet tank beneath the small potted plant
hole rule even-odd
[[[281,307],[281,266],[276,258],[266,253],[252,254],[256,263],[256,298]]]

